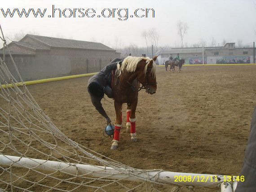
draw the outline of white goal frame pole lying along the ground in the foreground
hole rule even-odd
[[[31,159],[26,157],[14,157],[9,155],[0,155],[0,164],[5,166],[25,167],[27,169],[45,170],[49,172],[60,171],[67,174],[75,175],[79,172],[80,175],[88,175],[96,178],[105,179],[123,179],[128,181],[140,181],[140,179],[125,175],[123,172],[106,166],[91,166],[82,164],[68,164],[59,161],[45,161],[41,159]],[[122,168],[121,168],[122,169]],[[127,171],[127,170],[124,170]],[[233,192],[237,186],[237,182],[225,182],[226,175],[209,175],[209,174],[194,174],[194,173],[179,173],[170,171],[148,171],[144,172],[130,170],[134,174],[141,177],[164,184],[176,184],[182,186],[196,187],[221,187],[221,192]],[[136,173],[137,172],[137,173]],[[191,178],[193,181],[185,181]]]

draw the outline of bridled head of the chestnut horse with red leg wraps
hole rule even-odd
[[[156,61],[155,56],[153,59],[150,58],[142,58],[142,60],[137,65],[137,69],[135,70],[137,80],[145,87],[146,92],[151,95],[156,92],[157,83],[156,83]]]

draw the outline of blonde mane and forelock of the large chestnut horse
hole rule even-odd
[[[150,63],[150,61],[151,60],[153,61],[152,69],[151,69],[150,73],[153,77],[155,77],[156,64],[154,63],[154,60],[150,59],[149,57],[131,57],[131,56],[128,56],[122,62],[121,67],[120,67],[120,64],[117,64],[117,69],[116,69],[115,74],[119,77],[124,69],[126,69],[128,72],[134,72],[137,68],[137,65],[139,64],[139,62],[141,60],[146,61],[146,65],[145,65],[145,68],[144,68],[144,74],[146,74],[146,72],[147,72],[147,67],[148,67],[148,64]]]

